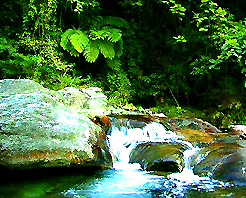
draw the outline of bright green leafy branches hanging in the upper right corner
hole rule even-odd
[[[194,22],[200,32],[207,32],[204,40],[208,48],[216,48],[216,51],[210,50],[210,53],[196,59],[192,63],[195,66],[193,73],[220,69],[223,63],[228,62],[234,62],[243,67],[242,72],[244,72],[243,56],[246,52],[244,22],[235,22],[229,11],[211,0],[202,0],[200,7],[203,11],[194,13]]]

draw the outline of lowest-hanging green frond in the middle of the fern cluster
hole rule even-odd
[[[98,55],[99,55],[99,49],[98,49],[98,41],[92,41],[90,40],[88,42],[88,45],[84,49],[83,53],[86,61],[92,63],[95,62]]]

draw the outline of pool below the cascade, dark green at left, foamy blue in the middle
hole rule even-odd
[[[0,198],[120,198],[120,197],[246,197],[246,187],[203,181],[185,184],[137,169],[25,171],[1,178]],[[3,172],[2,172],[3,173]]]

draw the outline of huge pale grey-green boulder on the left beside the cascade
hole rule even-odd
[[[67,95],[71,90],[78,93],[74,88]],[[111,166],[105,132],[87,116],[74,111],[86,104],[87,112],[94,114],[98,106],[104,105],[96,104],[95,98],[90,102],[84,94],[87,92],[92,91],[78,93],[81,97],[73,101],[72,97],[64,97],[65,90],[50,91],[28,79],[1,80],[0,165],[18,169]],[[99,95],[104,101],[105,97]],[[73,103],[72,109],[64,101]]]

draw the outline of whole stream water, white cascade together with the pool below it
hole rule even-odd
[[[199,150],[159,123],[142,128],[113,126],[108,135],[115,155],[111,170],[61,172],[51,177],[32,177],[19,181],[1,181],[0,198],[121,198],[121,197],[243,197],[245,188],[194,175],[190,159]],[[129,154],[143,142],[178,142],[184,151],[185,168],[181,173],[158,176],[129,164]],[[30,173],[29,173],[30,174]]]

